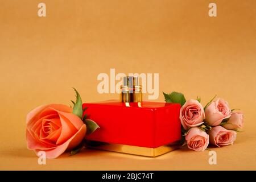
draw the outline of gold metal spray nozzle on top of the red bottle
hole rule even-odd
[[[139,77],[126,76],[123,77],[123,85],[121,86],[120,101],[121,102],[141,102],[142,87],[139,85]]]

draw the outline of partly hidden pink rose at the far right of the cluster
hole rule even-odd
[[[231,113],[231,117],[225,125],[222,125],[228,130],[237,130],[243,127],[243,113],[240,111],[234,111]]]

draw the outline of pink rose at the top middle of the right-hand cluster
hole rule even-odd
[[[220,125],[223,119],[229,118],[231,110],[229,109],[228,102],[222,98],[217,98],[210,105],[205,108],[205,121],[210,126]]]

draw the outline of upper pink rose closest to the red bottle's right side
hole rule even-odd
[[[185,130],[204,123],[204,108],[197,100],[188,100],[180,109],[180,121]]]

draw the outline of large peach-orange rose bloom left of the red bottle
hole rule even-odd
[[[42,105],[27,115],[27,147],[46,152],[47,159],[57,158],[76,147],[85,137],[86,126],[69,106]]]

